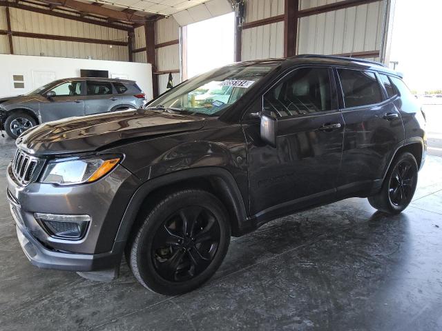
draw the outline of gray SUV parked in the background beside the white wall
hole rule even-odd
[[[18,97],[0,99],[0,127],[16,139],[41,123],[137,109],[145,102],[144,92],[135,81],[104,78],[68,78],[52,81]]]

